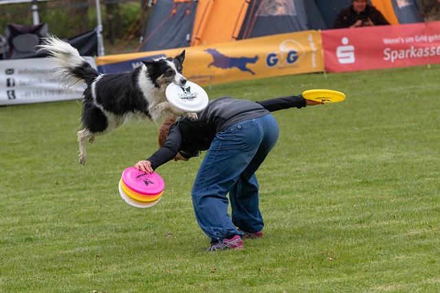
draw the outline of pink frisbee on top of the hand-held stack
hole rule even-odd
[[[124,184],[136,193],[142,195],[158,195],[165,188],[165,182],[157,173],[144,173],[135,167],[129,167],[122,173]]]

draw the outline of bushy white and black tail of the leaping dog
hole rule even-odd
[[[43,40],[39,51],[44,50],[56,65],[54,75],[61,75],[61,83],[71,90],[77,89],[83,83],[90,85],[100,75],[80,56],[78,50],[56,36],[48,36]]]

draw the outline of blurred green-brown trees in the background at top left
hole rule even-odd
[[[148,17],[149,0],[100,0],[104,41],[115,44],[124,34],[137,37]],[[49,26],[50,34],[71,38],[93,30],[98,25],[96,0],[50,0],[37,3],[39,21]],[[0,5],[0,34],[6,25],[33,24],[32,3]]]

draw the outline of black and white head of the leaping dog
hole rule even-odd
[[[181,74],[184,69],[185,50],[174,58],[142,61],[146,66],[146,76],[155,87],[167,87],[170,83],[185,85],[186,78]]]

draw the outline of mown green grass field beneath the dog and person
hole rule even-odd
[[[200,163],[169,162],[161,202],[133,208],[122,171],[151,123],[87,146],[80,102],[0,107],[0,292],[439,292],[440,65],[207,87],[262,100],[327,88],[344,102],[274,113],[259,169],[263,239],[207,253],[190,200]]]

